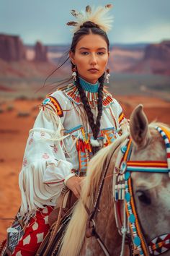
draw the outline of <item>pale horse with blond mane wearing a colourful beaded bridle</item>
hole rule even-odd
[[[155,127],[163,129],[164,138]],[[122,135],[90,161],[60,256],[127,256],[127,235],[136,255],[170,255],[169,138],[169,127],[148,125],[143,106],[135,108],[130,137]],[[94,213],[91,218],[89,213]],[[87,223],[95,224],[100,239],[86,237]]]

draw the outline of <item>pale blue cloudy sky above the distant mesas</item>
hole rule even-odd
[[[0,0],[0,33],[20,35],[24,43],[70,43],[71,9],[114,4],[111,43],[157,43],[170,39],[170,0]]]

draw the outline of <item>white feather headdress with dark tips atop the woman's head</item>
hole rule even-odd
[[[73,26],[72,31],[73,33],[75,33],[80,29],[81,25],[83,25],[84,22],[91,21],[107,33],[107,31],[111,29],[113,22],[113,17],[107,14],[107,12],[109,12],[109,9],[111,8],[112,4],[107,4],[104,7],[97,7],[96,9],[88,5],[86,6],[85,11],[81,12],[72,10],[71,14],[76,17],[76,22],[67,22],[67,25]]]

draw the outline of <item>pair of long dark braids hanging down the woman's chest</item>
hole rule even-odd
[[[95,121],[94,121],[94,115],[91,112],[91,107],[89,105],[89,100],[86,97],[86,93],[84,92],[84,88],[82,88],[81,85],[80,85],[78,75],[77,75],[77,79],[76,79],[76,82],[75,82],[76,87],[79,90],[81,101],[84,104],[84,109],[86,111],[86,115],[87,115],[88,120],[89,120],[89,125],[91,127],[92,132],[93,132],[94,140],[97,140],[97,137],[98,137],[99,131],[100,131],[100,120],[101,120],[101,117],[102,117],[102,109],[103,109],[102,98],[103,98],[103,87],[104,87],[104,74],[102,74],[102,77],[99,77],[100,85],[99,85],[99,90],[98,90],[98,101],[97,101],[98,114],[97,114],[96,124],[95,124]],[[97,153],[97,151],[99,150],[99,147],[92,147],[92,150],[93,150],[93,153]]]

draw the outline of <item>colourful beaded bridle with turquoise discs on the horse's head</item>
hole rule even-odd
[[[135,200],[133,198],[133,185],[130,177],[132,171],[144,171],[153,173],[167,173],[170,176],[170,140],[160,127],[156,127],[157,131],[163,137],[166,145],[167,161],[130,161],[132,152],[132,140],[126,140],[119,153],[119,163],[116,163],[115,172],[115,216],[117,228],[122,234],[122,241],[128,231],[133,240],[133,251],[140,256],[161,255],[170,249],[170,234],[163,234],[146,244],[143,233],[140,229],[138,215],[135,209]],[[121,159],[121,160],[120,160]],[[120,215],[120,200],[124,202],[123,223]],[[128,225],[126,223],[128,218]],[[124,246],[124,245],[123,245]],[[122,250],[123,250],[122,246]],[[122,254],[121,254],[122,255]]]

